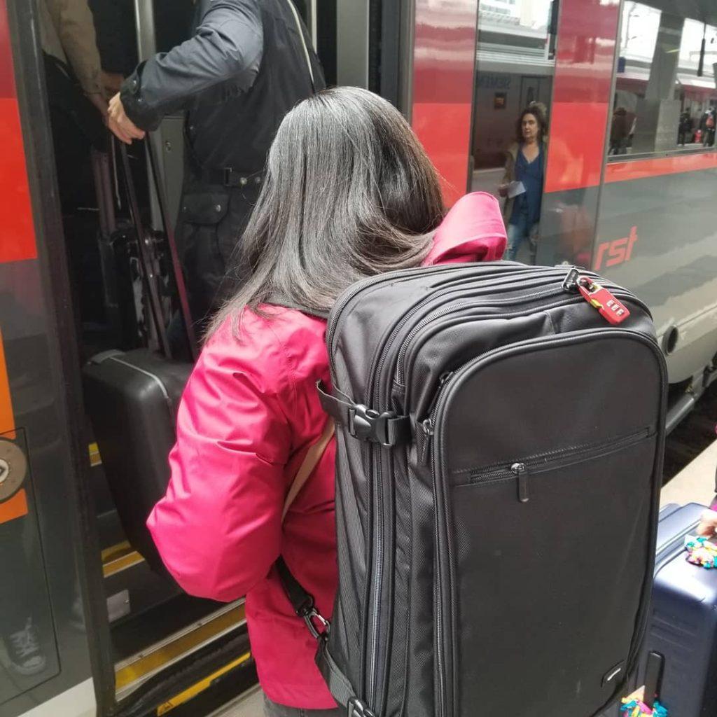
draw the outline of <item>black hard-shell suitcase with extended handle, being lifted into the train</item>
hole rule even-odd
[[[148,151],[187,340],[196,351],[184,280],[149,144]],[[163,572],[161,559],[146,528],[146,520],[153,505],[166,491],[169,480],[167,459],[176,435],[176,410],[193,364],[171,359],[165,330],[168,317],[163,313],[153,256],[148,251],[153,237],[143,227],[126,149],[121,147],[121,152],[134,231],[138,237],[147,240],[137,243],[138,260],[146,315],[158,350],[105,351],[90,359],[83,371],[85,402],[110,492],[128,541],[148,564]]]

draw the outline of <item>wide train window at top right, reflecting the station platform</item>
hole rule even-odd
[[[612,161],[714,144],[717,27],[674,10],[659,0],[623,6]]]

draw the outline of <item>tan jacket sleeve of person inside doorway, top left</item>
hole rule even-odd
[[[87,95],[101,95],[100,53],[87,0],[45,0],[67,61]]]

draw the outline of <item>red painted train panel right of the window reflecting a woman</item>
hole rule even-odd
[[[618,20],[618,0],[561,2],[546,192],[600,184]]]

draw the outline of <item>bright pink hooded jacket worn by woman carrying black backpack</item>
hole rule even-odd
[[[426,263],[503,255],[498,201],[469,194],[438,229]],[[282,525],[282,506],[308,447],[326,423],[316,381],[329,380],[326,323],[295,310],[271,319],[247,312],[204,346],[184,391],[171,480],[148,526],[167,569],[186,592],[246,596],[262,688],[277,703],[335,706],[313,657],[315,640],[293,613],[273,564],[283,555],[331,616],[337,585],[334,453],[328,446]]]

